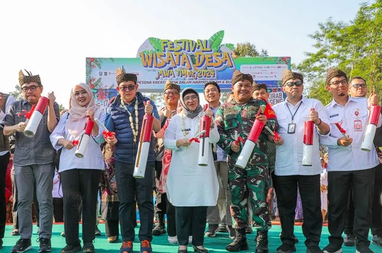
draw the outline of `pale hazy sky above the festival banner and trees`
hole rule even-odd
[[[308,37],[318,22],[353,19],[357,0],[323,1],[6,1],[0,9],[0,91],[18,85],[18,71],[40,74],[43,95],[54,91],[67,106],[70,90],[85,81],[86,57],[134,58],[149,37],[250,42],[292,63],[314,51]]]

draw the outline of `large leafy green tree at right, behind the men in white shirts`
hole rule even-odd
[[[349,23],[332,18],[318,24],[318,31],[309,35],[315,40],[316,52],[306,52],[306,59],[297,65],[310,87],[310,97],[325,99],[317,92],[326,71],[338,67],[348,78],[362,76],[367,80],[369,93],[375,88],[381,97],[382,86],[382,0],[363,3],[356,17]],[[321,87],[322,88],[322,87]]]

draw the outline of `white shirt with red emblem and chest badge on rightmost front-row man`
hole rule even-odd
[[[320,137],[320,143],[328,147],[328,172],[359,171],[378,165],[374,146],[370,152],[361,150],[368,118],[367,98],[349,97],[345,106],[339,105],[333,99],[325,107],[332,130],[329,136]],[[361,131],[356,131],[357,121],[361,121]],[[342,124],[341,127],[346,130],[346,135],[353,138],[351,145],[347,147],[337,145],[337,140],[342,134],[336,127],[336,122]],[[377,127],[380,125],[379,115]]]

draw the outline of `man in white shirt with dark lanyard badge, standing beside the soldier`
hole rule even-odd
[[[286,69],[283,72],[283,91],[286,100],[274,105],[281,140],[276,141],[274,187],[281,220],[281,241],[278,253],[296,251],[293,235],[297,186],[304,212],[303,233],[307,253],[320,253],[318,244],[322,230],[319,135],[330,131],[328,115],[320,101],[303,97],[303,75]],[[312,166],[303,166],[304,122],[313,121]]]

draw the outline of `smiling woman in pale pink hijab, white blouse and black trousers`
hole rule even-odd
[[[83,158],[74,155],[74,140],[83,130],[87,119],[94,122]],[[78,239],[78,220],[80,207],[83,212],[82,239],[84,253],[95,252],[95,222],[98,182],[104,163],[101,143],[104,142],[102,130],[95,119],[103,124],[105,113],[96,108],[92,90],[85,83],[78,83],[71,92],[70,109],[60,119],[50,135],[50,142],[56,150],[62,148],[59,173],[64,199],[64,221],[66,246],[61,253],[74,253],[81,250]]]

